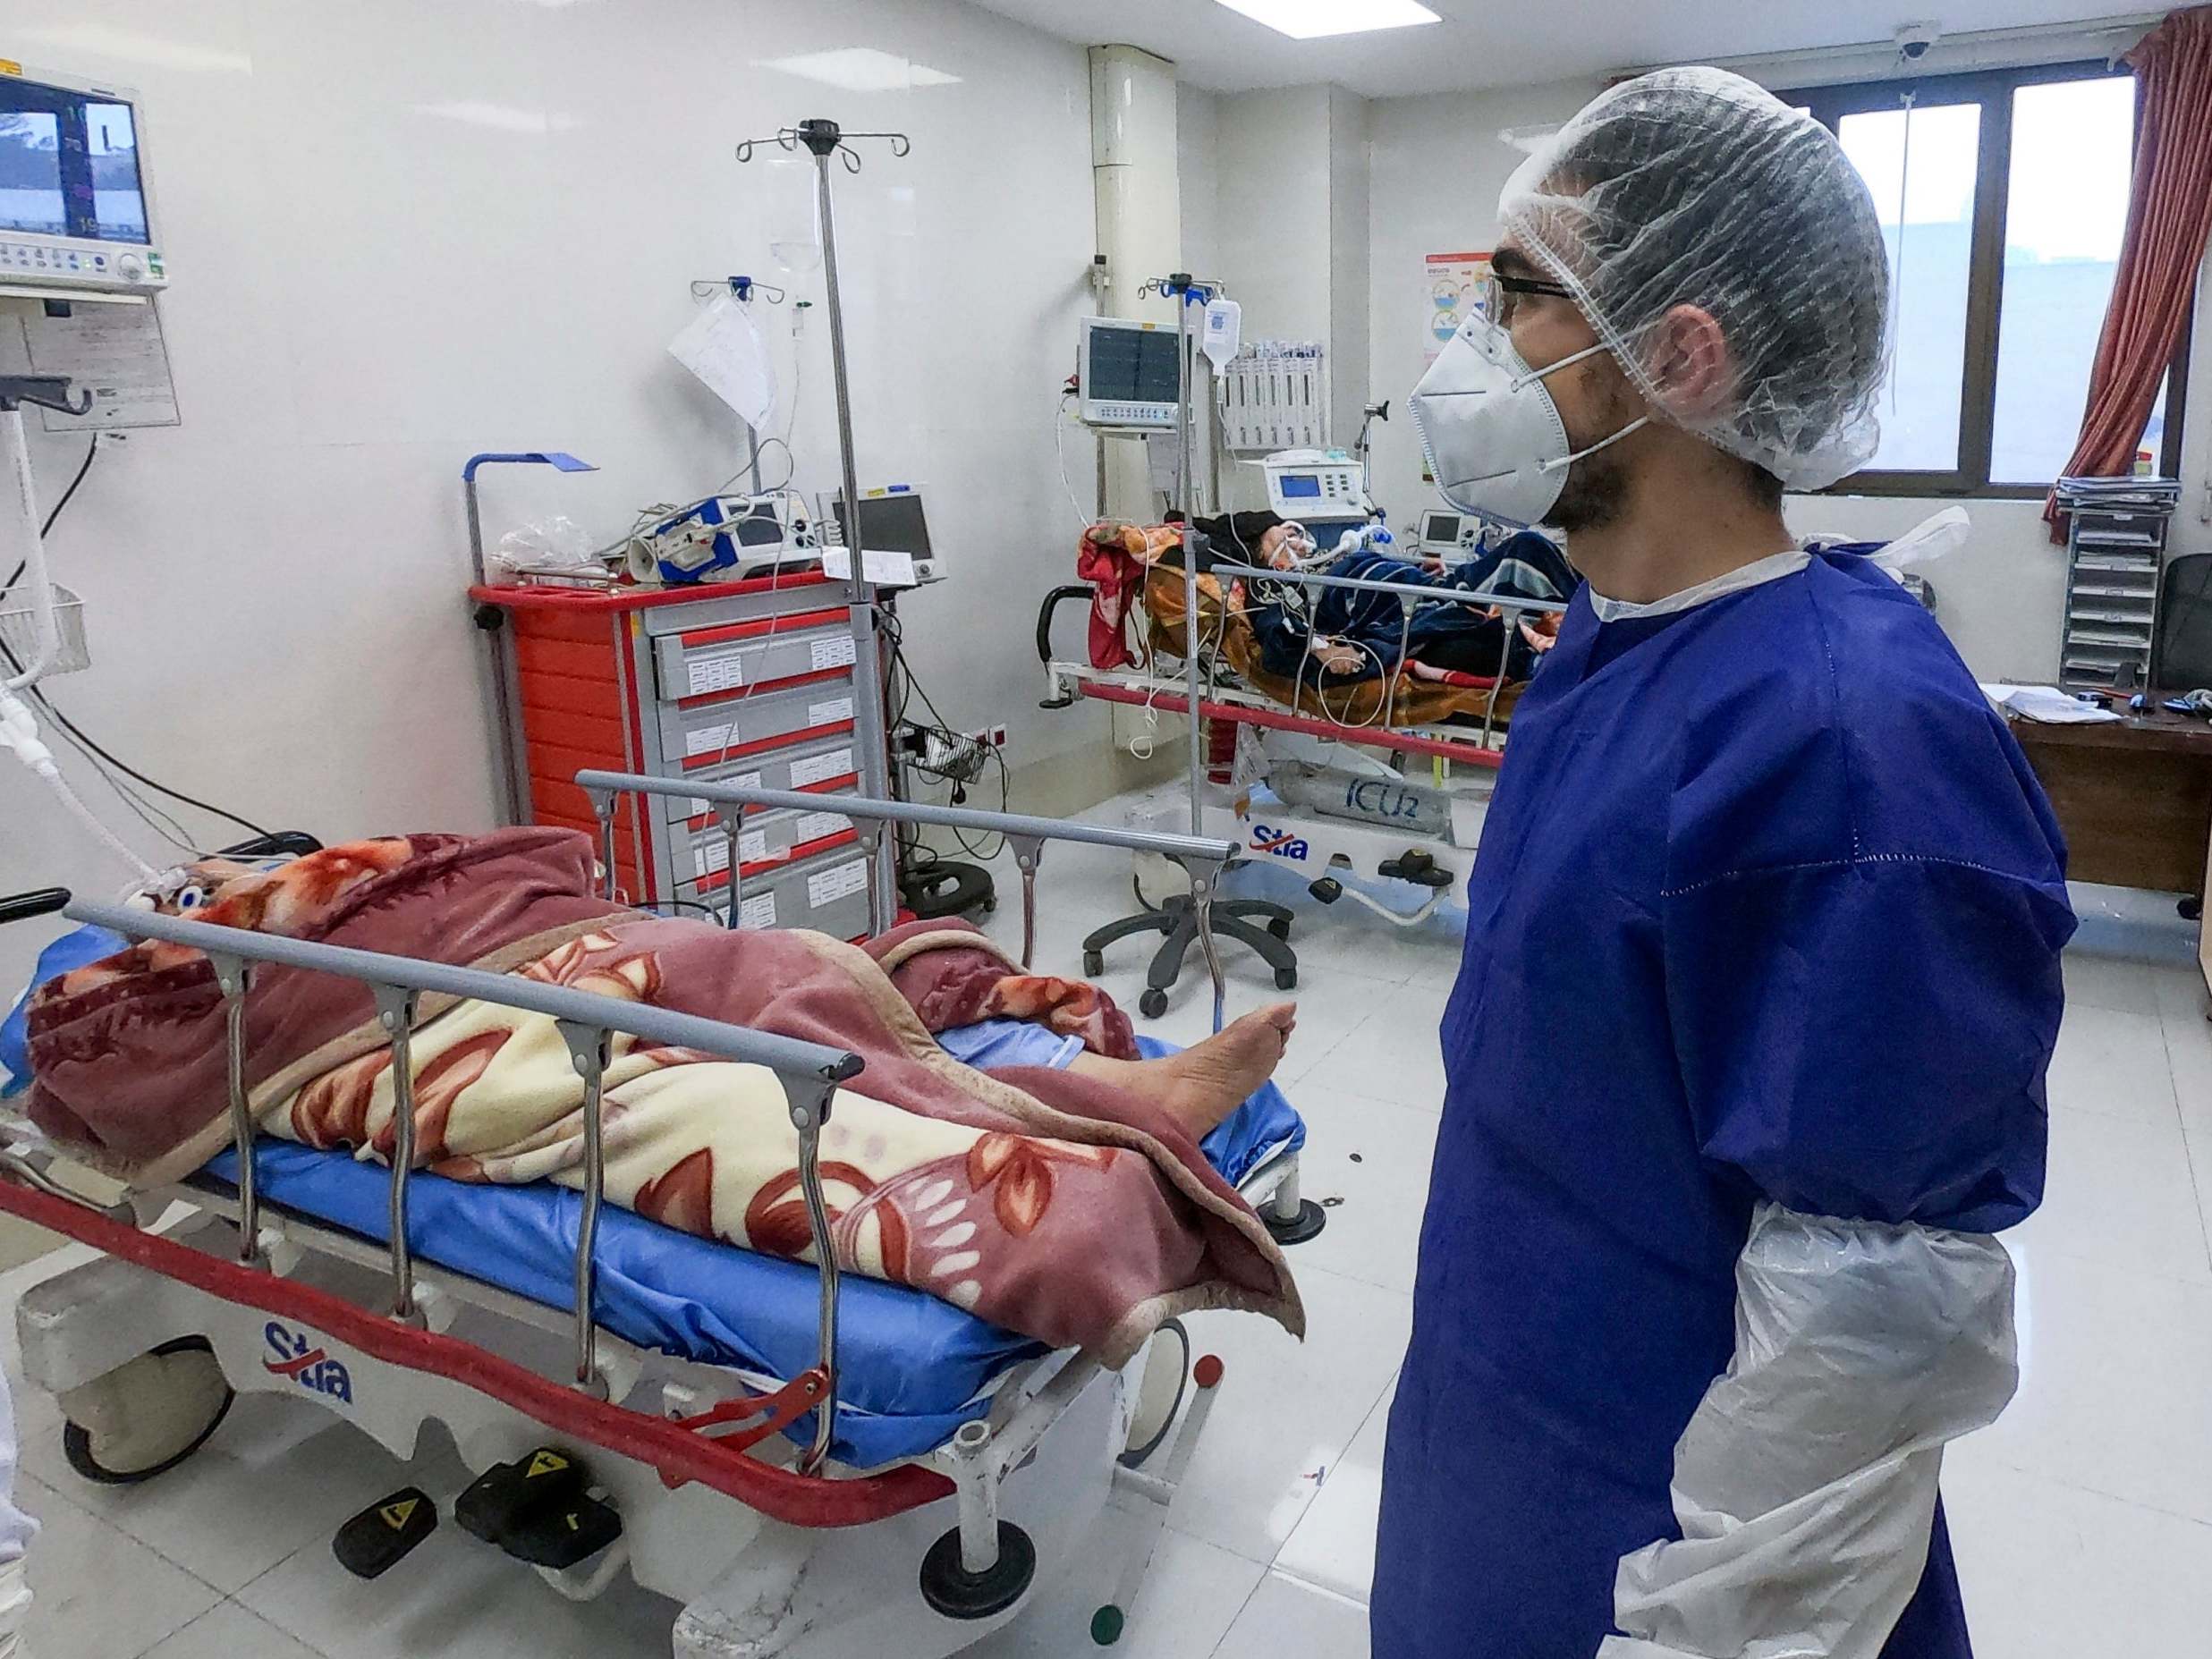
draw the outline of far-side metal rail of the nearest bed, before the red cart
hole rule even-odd
[[[591,796],[599,816],[602,863],[613,883],[615,872],[615,796],[624,792],[664,794],[684,801],[708,801],[719,807],[723,834],[730,841],[730,911],[728,925],[739,925],[739,838],[745,812],[774,810],[823,810],[823,796],[794,794],[790,790],[757,790],[743,783],[697,783],[688,779],[655,779],[639,772],[577,772],[575,785]],[[1237,843],[1214,836],[1177,836],[1159,830],[1110,830],[1095,823],[1068,823],[1064,818],[1033,818],[1022,812],[978,812],[975,807],[938,807],[920,801],[869,801],[867,796],[841,794],[827,803],[838,816],[854,818],[867,843],[867,856],[883,856],[883,825],[907,823],[925,827],[962,830],[973,834],[1000,834],[1013,847],[1015,867],[1022,872],[1022,967],[1031,964],[1037,947],[1037,860],[1046,841],[1073,841],[1088,847],[1115,847],[1121,852],[1150,852],[1170,858],[1190,876],[1190,902],[1199,925],[1199,949],[1206,953],[1206,969],[1214,982],[1214,1031],[1221,1029],[1225,980],[1221,973],[1221,949],[1212,931],[1214,887],[1221,869],[1237,856]]]

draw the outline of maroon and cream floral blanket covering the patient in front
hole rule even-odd
[[[192,911],[524,973],[858,1053],[823,1133],[841,1265],[1106,1363],[1164,1321],[1243,1307],[1303,1332],[1265,1228],[1170,1117],[1044,1068],[975,1071],[931,1031],[1040,1020],[1133,1053],[1097,989],[1026,975],[982,933],[916,922],[854,947],[726,931],[595,898],[566,830],[403,836],[223,876]],[[416,1164],[462,1181],[582,1183],[582,1082],[555,1024],[425,998],[411,1044]],[[365,987],[257,969],[248,1095],[263,1133],[389,1159],[389,1046]],[[230,1141],[223,1006],[197,951],[148,942],[40,989],[31,1117],[95,1166],[175,1181]],[[796,1135],[776,1075],[628,1035],[604,1091],[606,1197],[699,1237],[805,1256]]]

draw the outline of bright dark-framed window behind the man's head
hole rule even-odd
[[[1882,445],[1843,491],[2039,495],[2073,453],[2128,219],[2135,77],[2099,64],[1785,93],[1889,248]],[[2181,458],[2185,347],[2143,445]]]

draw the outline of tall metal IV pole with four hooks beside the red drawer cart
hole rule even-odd
[[[860,170],[860,153],[852,139],[885,139],[891,155],[907,155],[914,144],[905,133],[845,133],[836,122],[814,119],[799,126],[779,128],[765,139],[745,139],[737,146],[737,159],[750,161],[757,144],[774,144],[781,150],[796,150],[801,144],[814,157],[814,208],[823,226],[823,285],[830,299],[830,369],[836,383],[836,440],[838,469],[845,484],[845,551],[852,571],[845,580],[845,597],[852,608],[852,690],[854,728],[860,734],[860,785],[876,801],[889,799],[889,714],[883,701],[883,653],[876,641],[876,591],[867,580],[860,551],[860,482],[852,458],[852,389],[845,374],[845,303],[836,274],[836,210],[830,199],[830,157],[836,155],[847,173]],[[860,710],[867,710],[860,717]],[[869,860],[867,922],[869,933],[883,933],[898,920],[898,872],[891,858]],[[734,876],[734,872],[732,872]]]

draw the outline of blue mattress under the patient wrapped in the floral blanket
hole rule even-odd
[[[1137,1037],[1146,1055],[1170,1044]],[[1206,1157],[1230,1181],[1305,1144],[1305,1124],[1274,1084],[1206,1137]],[[383,1243],[389,1175],[349,1152],[263,1139],[263,1199]],[[232,1183],[237,1152],[206,1166]],[[544,1307],[571,1307],[582,1197],[551,1183],[473,1186],[438,1175],[407,1183],[414,1252]],[[812,1267],[734,1250],[630,1214],[599,1212],[599,1325],[637,1347],[730,1365],[752,1378],[790,1378],[814,1363],[818,1281]],[[945,1444],[989,1411],[989,1385],[1042,1345],[951,1303],[876,1279],[845,1279],[838,1301],[838,1422],[834,1455],[867,1469]],[[814,1420],[787,1431],[812,1442]]]

